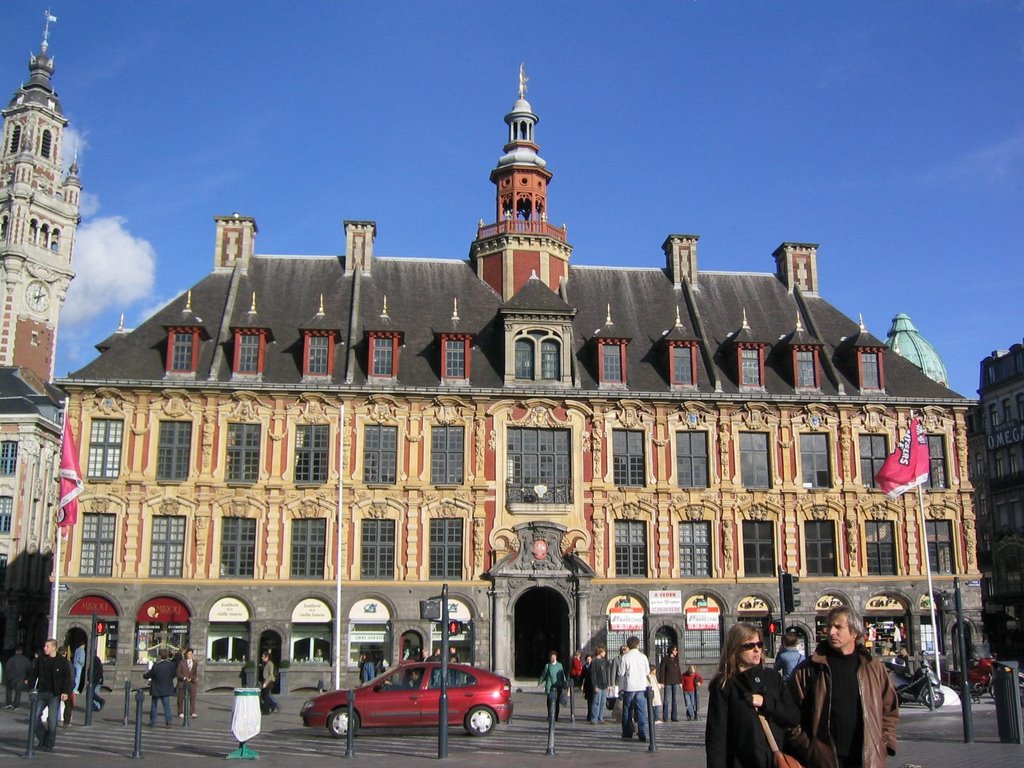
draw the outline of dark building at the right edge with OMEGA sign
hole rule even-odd
[[[981,361],[971,474],[985,624],[999,658],[1024,658],[1024,344]]]

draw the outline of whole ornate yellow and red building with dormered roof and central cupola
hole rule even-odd
[[[468,261],[381,258],[372,221],[343,256],[261,256],[218,217],[211,272],[59,381],[87,475],[61,621],[105,615],[122,678],[190,644],[228,687],[270,648],[297,689],[336,654],[350,682],[364,652],[429,652],[419,601],[447,584],[464,660],[528,678],[638,634],[707,666],[778,615],[782,567],[808,642],[849,603],[879,653],[950,647],[923,548],[937,590],[977,579],[971,401],[822,299],[814,245],[765,274],[698,269],[695,234],[662,267],[570,267],[522,88],[505,121]],[[927,542],[915,496],[873,488],[911,411]]]

